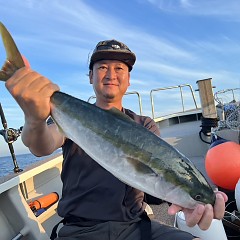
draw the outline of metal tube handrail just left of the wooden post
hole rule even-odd
[[[183,91],[182,91],[183,87],[189,87],[190,88],[190,91],[191,91],[191,94],[192,94],[192,98],[193,98],[195,107],[196,107],[196,109],[198,108],[197,102],[196,102],[196,98],[195,98],[195,95],[194,95],[194,91],[193,91],[192,86],[190,84],[181,84],[181,85],[177,85],[177,86],[170,86],[170,87],[164,87],[164,88],[155,88],[155,89],[152,89],[150,91],[150,99],[151,99],[151,108],[152,108],[152,117],[153,117],[153,119],[155,119],[153,92],[164,91],[164,90],[169,90],[169,89],[173,89],[173,88],[179,88],[180,96],[181,96],[181,102],[182,102],[182,110],[183,110],[183,112],[185,112],[184,97],[183,97]]]

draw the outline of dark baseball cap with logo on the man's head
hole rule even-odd
[[[135,54],[122,42],[115,39],[99,42],[90,58],[89,69],[93,64],[101,60],[118,60],[128,65],[129,72],[136,61]]]

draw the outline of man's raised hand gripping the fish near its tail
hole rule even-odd
[[[49,79],[23,67],[7,80],[6,87],[25,114],[25,121],[44,122],[51,112],[50,97],[59,87]]]

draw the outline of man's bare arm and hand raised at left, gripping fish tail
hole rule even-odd
[[[6,87],[24,112],[23,143],[37,156],[45,156],[62,146],[64,135],[56,124],[47,125],[52,94],[59,87],[31,70],[21,68],[7,80]]]

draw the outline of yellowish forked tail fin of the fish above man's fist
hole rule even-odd
[[[7,81],[19,68],[24,67],[25,64],[11,34],[1,22],[0,34],[7,55],[7,59],[0,70],[0,81]]]

